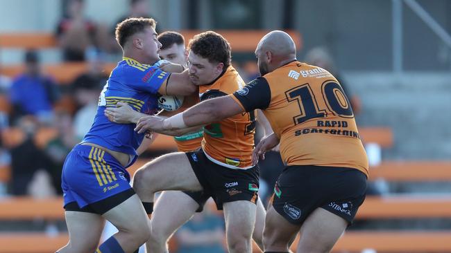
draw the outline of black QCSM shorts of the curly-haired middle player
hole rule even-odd
[[[237,200],[257,203],[258,166],[250,169],[230,169],[212,162],[202,149],[186,154],[205,196],[213,198],[218,210],[223,209],[223,203]]]

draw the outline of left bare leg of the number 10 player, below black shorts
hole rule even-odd
[[[263,234],[264,252],[289,252],[289,247],[299,229],[300,225],[289,223],[272,206],[269,207]]]

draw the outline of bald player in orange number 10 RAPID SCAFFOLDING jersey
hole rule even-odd
[[[141,118],[138,132],[177,131],[262,109],[273,128],[253,152],[253,162],[280,143],[287,167],[266,214],[265,252],[330,252],[363,203],[368,161],[349,100],[328,71],[296,60],[293,39],[265,35],[255,50],[258,77],[232,95],[201,102],[164,119]]]

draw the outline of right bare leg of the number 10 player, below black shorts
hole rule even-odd
[[[348,221],[317,208],[309,215],[300,228],[298,252],[325,253],[330,252],[348,226]]]

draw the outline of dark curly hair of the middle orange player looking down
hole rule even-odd
[[[224,69],[230,66],[232,59],[230,44],[217,32],[199,33],[189,40],[188,48],[209,62],[222,62]]]

